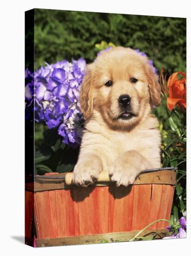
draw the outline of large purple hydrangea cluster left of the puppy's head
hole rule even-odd
[[[56,128],[63,142],[76,148],[81,142],[83,116],[78,98],[86,61],[66,60],[39,68],[34,73],[25,70],[26,118],[34,114],[37,122]],[[31,106],[31,107],[30,107]]]

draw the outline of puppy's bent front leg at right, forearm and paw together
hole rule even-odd
[[[136,176],[143,170],[152,168],[151,164],[136,150],[123,153],[111,165],[109,174],[116,186],[132,184]]]

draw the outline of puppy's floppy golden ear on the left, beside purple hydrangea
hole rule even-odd
[[[93,109],[92,71],[90,65],[87,65],[86,67],[86,73],[83,78],[79,97],[80,107],[84,119],[88,119],[91,116]]]

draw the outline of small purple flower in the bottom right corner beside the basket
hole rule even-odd
[[[170,238],[186,238],[186,219],[185,217],[181,217],[178,220],[178,224],[180,225],[180,227],[178,228],[178,233],[177,235],[175,235],[174,229],[173,229],[173,225],[167,227],[167,231],[168,232],[172,232],[172,236],[166,236],[163,239],[170,239]]]

